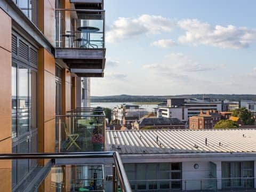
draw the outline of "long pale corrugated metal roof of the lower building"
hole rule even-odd
[[[106,143],[120,154],[252,153],[256,129],[107,131]]]

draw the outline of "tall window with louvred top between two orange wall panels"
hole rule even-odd
[[[13,31],[12,153],[37,152],[37,56],[37,49]],[[35,159],[13,160],[13,190],[36,166]]]

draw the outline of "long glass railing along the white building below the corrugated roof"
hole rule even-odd
[[[133,191],[256,191],[254,177],[129,180]]]

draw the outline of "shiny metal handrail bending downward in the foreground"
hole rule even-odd
[[[53,158],[114,158],[119,184],[124,192],[132,192],[127,179],[122,159],[117,151],[78,152],[78,153],[33,153],[33,154],[0,154],[0,159],[53,159]]]

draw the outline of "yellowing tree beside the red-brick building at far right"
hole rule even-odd
[[[251,111],[245,107],[234,109],[232,112],[232,116],[239,117],[243,121],[244,125],[254,125],[255,118]]]

